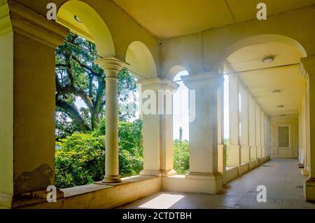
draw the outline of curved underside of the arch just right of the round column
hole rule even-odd
[[[127,48],[128,69],[137,79],[153,79],[158,76],[155,61],[150,50],[141,41],[134,41]]]

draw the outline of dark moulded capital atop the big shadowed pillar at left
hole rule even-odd
[[[15,1],[9,1],[8,6],[14,32],[52,48],[64,43],[65,37],[69,34],[68,28],[59,25],[55,21],[48,20],[45,16]]]

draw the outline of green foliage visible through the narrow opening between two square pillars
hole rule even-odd
[[[174,170],[184,175],[189,171],[189,142],[174,140]]]

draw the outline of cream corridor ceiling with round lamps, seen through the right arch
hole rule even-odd
[[[262,59],[270,55],[274,62],[263,63]],[[270,42],[241,48],[228,57],[228,63],[269,117],[297,118],[305,81],[300,58],[297,48]]]

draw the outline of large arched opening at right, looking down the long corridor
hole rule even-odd
[[[237,41],[223,55],[228,175],[235,166],[244,173],[270,155],[297,158],[304,93],[300,59],[307,56],[304,48],[287,36],[266,34]],[[281,128],[283,125],[290,127]],[[280,148],[279,131],[291,128],[291,135],[286,137],[292,146]],[[245,163],[249,163],[248,170]]]

